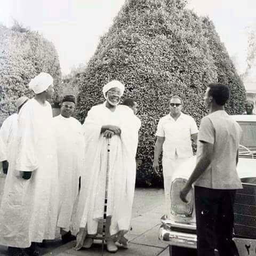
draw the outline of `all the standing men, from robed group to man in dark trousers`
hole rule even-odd
[[[9,255],[36,256],[36,243],[54,239],[59,227],[63,241],[76,239],[77,250],[90,248],[105,216],[107,250],[116,252],[116,242],[127,248],[124,235],[130,229],[141,126],[135,115],[137,103],[130,99],[126,106],[120,105],[124,85],[111,81],[102,89],[106,101],[93,106],[81,125],[71,117],[73,95],[63,98],[61,114],[52,118],[49,74],[39,74],[29,87],[35,97],[21,97],[18,114],[0,131],[0,161],[7,173],[0,244],[9,246]],[[194,119],[181,112],[178,96],[171,98],[170,114],[157,126],[153,168],[158,173],[163,150],[167,215],[172,175],[193,156],[191,139],[196,142],[198,133],[197,164],[180,193],[186,202],[195,183],[198,255],[214,255],[216,247],[220,255],[232,255],[234,247],[231,230],[235,190],[241,188],[236,172],[241,128],[223,108],[228,98],[228,86],[207,86],[204,102],[210,115],[202,119],[199,133]]]

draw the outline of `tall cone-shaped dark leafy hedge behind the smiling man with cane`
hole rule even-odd
[[[76,75],[77,116],[82,122],[87,111],[104,100],[102,86],[111,79],[125,84],[124,97],[137,99],[142,121],[137,183],[154,178],[156,125],[169,113],[171,95],[183,98],[183,111],[199,124],[206,114],[207,83],[223,82],[232,92],[229,113],[243,111],[244,86],[212,22],[185,5],[183,0],[126,1],[86,69]]]

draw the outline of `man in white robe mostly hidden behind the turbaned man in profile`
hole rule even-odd
[[[0,137],[5,144],[7,158],[8,155],[11,154],[10,146],[13,139],[13,134],[15,134],[17,130],[19,111],[28,100],[29,99],[26,96],[22,96],[17,99],[17,101],[15,102],[17,106],[17,113],[14,113],[11,116],[7,117],[0,128]]]

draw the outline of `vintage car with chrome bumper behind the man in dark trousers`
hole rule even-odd
[[[234,241],[240,256],[256,255],[256,115],[236,115],[233,118],[243,130],[237,165],[243,189],[236,193]],[[194,191],[192,189],[188,194],[188,203],[183,203],[179,194],[195,164],[194,156],[175,170],[170,193],[171,216],[166,218],[164,215],[159,228],[159,239],[172,245],[172,250],[187,248],[189,255],[193,255],[195,250],[191,249],[196,249],[197,241]]]

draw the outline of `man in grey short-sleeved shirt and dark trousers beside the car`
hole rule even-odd
[[[204,104],[209,109],[200,124],[197,164],[180,192],[183,202],[195,185],[197,255],[238,255],[232,239],[236,189],[242,184],[236,171],[242,129],[225,111],[229,88],[207,86]]]

